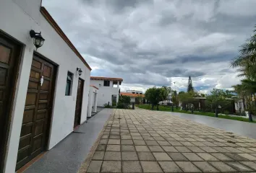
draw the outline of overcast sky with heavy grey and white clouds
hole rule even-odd
[[[91,76],[120,77],[121,90],[198,92],[239,83],[230,61],[256,24],[256,1],[43,0]],[[174,86],[175,82],[175,86]]]

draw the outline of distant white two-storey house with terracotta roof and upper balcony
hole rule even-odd
[[[98,88],[98,106],[103,107],[105,104],[112,105],[113,102],[119,101],[119,89],[123,79],[109,78],[100,76],[90,76],[90,85]]]

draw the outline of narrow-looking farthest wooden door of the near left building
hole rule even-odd
[[[82,79],[78,79],[77,103],[75,105],[75,113],[74,113],[74,128],[80,124],[80,120],[81,120],[83,88],[84,88],[84,81]]]

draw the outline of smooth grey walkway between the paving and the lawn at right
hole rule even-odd
[[[241,136],[247,136],[249,138],[256,139],[256,123],[247,123],[237,120],[228,120],[217,117],[208,117],[202,115],[192,115],[179,112],[168,112],[169,115],[176,115],[187,120],[192,120],[197,123],[209,125],[213,128],[221,128]]]

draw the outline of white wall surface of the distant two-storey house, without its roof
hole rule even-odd
[[[90,79],[90,85],[94,85],[98,88],[98,106],[99,107],[103,107],[104,104],[108,104],[108,102],[110,105],[112,105],[112,95],[117,96],[119,94],[119,87],[114,88],[113,81],[110,81],[109,86],[103,86],[104,85],[103,80]]]

